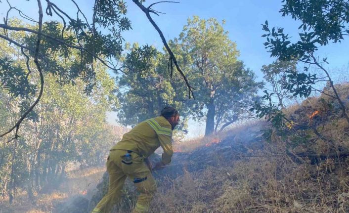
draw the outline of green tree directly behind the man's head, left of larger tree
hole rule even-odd
[[[138,48],[134,43],[131,48]],[[118,80],[119,122],[124,126],[135,126],[141,121],[160,115],[168,105],[174,106],[186,121],[190,108],[185,103],[186,90],[181,86],[179,75],[168,72],[168,56],[157,51],[150,58],[147,70],[122,75]],[[127,64],[127,63],[126,63]],[[127,64],[131,67],[132,64]],[[180,125],[183,128],[183,122]]]

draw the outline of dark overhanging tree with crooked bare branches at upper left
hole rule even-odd
[[[21,48],[23,57],[26,57],[27,64],[33,60],[36,67],[37,77],[40,81],[33,84],[29,80],[34,72],[32,68],[20,68],[13,65],[6,57],[0,58],[0,82],[4,88],[13,96],[20,96],[23,100],[23,112],[15,124],[0,136],[4,136],[14,130],[14,139],[18,138],[18,129],[25,118],[35,118],[34,107],[39,103],[44,91],[44,73],[51,72],[59,76],[62,83],[74,82],[76,79],[83,79],[86,84],[85,91],[89,93],[94,85],[95,63],[98,61],[115,72],[123,72],[125,66],[118,64],[119,58],[123,52],[122,32],[131,29],[131,22],[126,17],[127,7],[123,0],[95,0],[91,21],[87,21],[87,16],[80,9],[75,0],[71,0],[76,7],[76,17],[71,17],[58,5],[50,0],[45,0],[45,15],[55,15],[62,21],[62,26],[57,21],[43,22],[44,12],[41,0],[37,0],[38,19],[31,18],[16,7],[7,3],[8,12],[4,18],[4,23],[0,24],[3,29],[0,34],[2,40],[7,41],[13,46]],[[145,7],[141,2],[144,0],[132,0],[147,16],[149,21],[158,31],[160,37],[170,54],[171,63],[175,64],[176,70],[183,77],[189,92],[189,98],[192,94],[192,88],[180,70],[172,50],[150,16],[150,13],[158,15],[156,10],[152,9],[156,3]],[[160,3],[160,2],[157,2]],[[16,10],[18,14],[34,25],[13,26],[8,19],[11,10]],[[26,35],[22,40],[11,36],[11,32],[21,32]],[[143,70],[147,65],[141,62],[149,56],[147,45],[144,48],[138,48],[135,52],[128,55],[128,59],[137,60],[140,66],[137,71]],[[72,52],[77,51],[78,55],[72,57]],[[65,69],[64,65],[57,63],[57,55],[64,60],[73,60],[74,66],[70,70]],[[39,87],[39,92],[37,92]],[[38,94],[37,94],[38,93]],[[37,97],[35,97],[37,95]],[[31,114],[31,115],[30,115]]]

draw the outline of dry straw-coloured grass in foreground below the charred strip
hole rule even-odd
[[[159,188],[152,213],[346,213],[349,160],[297,164],[288,155],[185,172]]]

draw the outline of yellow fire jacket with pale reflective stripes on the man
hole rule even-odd
[[[124,134],[123,139],[113,148],[131,150],[144,158],[149,157],[159,147],[162,147],[162,162],[169,164],[173,155],[171,124],[163,117],[145,120]]]

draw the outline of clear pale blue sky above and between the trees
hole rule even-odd
[[[0,18],[3,19],[7,11],[7,3],[1,0]],[[36,18],[38,16],[36,0],[9,0],[12,6],[22,9],[27,15]],[[68,14],[75,17],[76,8],[70,0],[51,0],[59,7],[64,8]],[[131,1],[128,4],[128,17],[132,22],[132,30],[123,34],[129,43],[155,45],[162,49],[161,39],[147,20],[145,14]],[[269,26],[284,28],[295,40],[298,38],[299,21],[291,17],[282,17],[278,11],[282,7],[282,0],[177,0],[179,3],[159,3],[153,8],[164,12],[156,16],[152,14],[155,22],[162,30],[167,40],[178,37],[186,24],[188,18],[197,15],[200,18],[217,18],[218,21],[225,20],[224,29],[229,32],[231,41],[236,42],[240,51],[239,59],[244,61],[246,67],[252,69],[259,80],[262,80],[261,67],[270,64],[275,59],[270,58],[270,53],[263,46],[265,38],[262,38],[262,23],[268,20]],[[77,0],[82,11],[90,17],[94,0]],[[157,2],[146,0],[144,5]],[[44,0],[43,0],[43,5]],[[16,15],[12,11],[10,15]],[[47,17],[47,16],[46,16]],[[51,18],[52,19],[52,18]],[[47,20],[47,19],[46,19]],[[330,43],[321,47],[316,55],[320,58],[327,57],[329,65],[327,68],[336,75],[335,80],[348,81],[348,57],[349,39],[342,43]],[[115,124],[115,113],[108,113],[108,122]],[[204,125],[189,121],[188,137],[194,137],[204,133]]]

